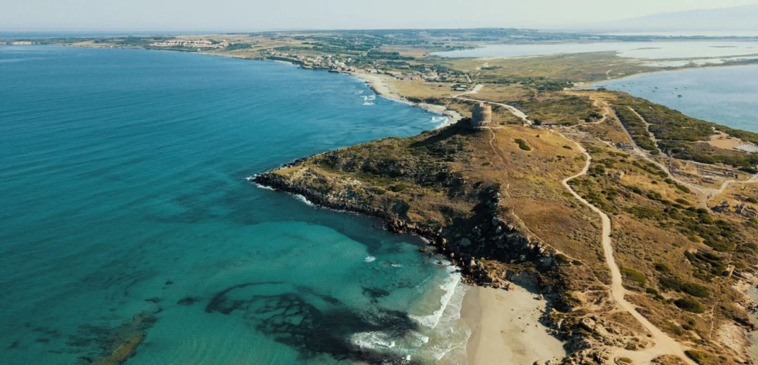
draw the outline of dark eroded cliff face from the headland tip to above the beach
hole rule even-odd
[[[255,182],[275,190],[302,195],[318,206],[373,216],[381,219],[390,231],[396,233],[418,234],[427,238],[439,253],[448,256],[462,268],[467,282],[471,284],[497,288],[508,285],[507,277],[513,275],[513,271],[485,264],[491,261],[521,265],[522,269],[529,267],[543,273],[558,270],[553,250],[545,244],[532,241],[517,227],[501,218],[501,194],[497,187],[482,188],[475,194],[482,200],[478,203],[471,202],[475,204],[474,213],[468,216],[468,222],[446,225],[436,219],[413,219],[408,212],[418,208],[414,206],[414,201],[406,200],[405,195],[377,195],[375,190],[362,181],[327,176],[316,168],[305,166],[305,161],[295,162],[285,170],[286,174],[273,171],[258,175]],[[453,212],[456,208],[441,206],[438,209]],[[445,220],[456,221],[455,215],[451,216],[453,217]],[[477,257],[481,260],[476,260]],[[556,281],[544,283],[543,286],[550,287],[543,290],[552,293],[559,291],[557,287],[560,284]]]

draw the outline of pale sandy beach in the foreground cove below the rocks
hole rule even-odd
[[[531,365],[565,356],[561,341],[539,319],[547,301],[525,288],[472,287],[463,298],[461,318],[471,329],[468,365]]]

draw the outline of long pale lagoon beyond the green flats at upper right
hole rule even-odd
[[[500,44],[477,49],[435,52],[443,57],[515,57],[616,51],[631,58],[693,58],[758,54],[758,42],[597,42],[561,44]]]

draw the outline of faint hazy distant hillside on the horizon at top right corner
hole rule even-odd
[[[581,30],[673,31],[673,30],[758,30],[758,5],[733,8],[675,11],[633,17],[606,23],[575,26]]]

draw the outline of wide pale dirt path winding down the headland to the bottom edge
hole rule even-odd
[[[650,335],[652,336],[652,340],[655,343],[655,345],[652,348],[646,348],[642,351],[628,351],[625,349],[616,349],[615,355],[617,356],[623,356],[623,357],[629,357],[631,358],[634,363],[637,364],[643,364],[643,363],[650,363],[651,360],[653,360],[656,357],[659,357],[664,354],[672,354],[676,355],[678,357],[681,357],[682,360],[684,360],[685,363],[689,363],[691,365],[697,365],[694,363],[694,361],[690,360],[687,355],[684,354],[684,348],[682,348],[681,345],[677,341],[675,341],[673,338],[669,337],[669,335],[666,335],[666,333],[662,332],[658,327],[654,326],[653,323],[650,323],[647,318],[642,316],[639,312],[637,312],[637,309],[634,307],[633,304],[629,303],[625,299],[626,295],[626,289],[624,288],[624,285],[622,285],[622,275],[621,270],[619,270],[619,266],[615,263],[615,258],[613,257],[613,247],[611,243],[611,220],[609,217],[604,213],[602,210],[598,209],[597,206],[592,205],[590,202],[585,200],[581,195],[579,195],[572,187],[568,184],[568,181],[571,181],[574,178],[578,178],[582,175],[587,174],[587,171],[590,168],[590,164],[592,163],[592,157],[589,153],[587,153],[587,150],[584,149],[581,144],[578,142],[571,140],[581,151],[581,153],[584,155],[584,157],[587,159],[587,163],[584,165],[584,168],[574,176],[568,177],[563,179],[562,184],[563,186],[568,189],[568,191],[581,203],[583,203],[585,206],[592,209],[594,212],[596,212],[598,215],[600,215],[600,219],[603,222],[603,233],[602,233],[602,244],[603,244],[603,254],[606,257],[606,265],[611,270],[611,297],[613,297],[613,300],[615,300],[616,304],[619,304],[619,307],[621,307],[623,310],[626,310],[628,313],[630,313],[632,316],[634,316],[637,321],[639,321],[642,326],[647,329],[648,332],[650,332]]]

